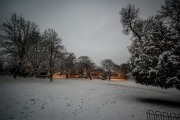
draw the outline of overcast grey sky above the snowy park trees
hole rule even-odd
[[[130,37],[122,33],[119,12],[128,4],[140,8],[141,17],[155,15],[164,0],[0,0],[0,24],[12,13],[35,22],[41,31],[53,28],[68,52],[89,56],[99,65],[112,59],[125,63]]]

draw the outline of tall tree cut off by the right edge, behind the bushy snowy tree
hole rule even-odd
[[[173,32],[173,53],[166,52],[161,56],[162,59],[167,56],[168,62],[173,64],[170,64],[172,76],[168,78],[167,83],[180,90],[180,1],[165,0],[158,11],[158,18],[163,19]]]

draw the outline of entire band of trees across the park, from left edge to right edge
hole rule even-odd
[[[88,56],[76,59],[74,53],[66,51],[53,29],[41,33],[38,25],[14,13],[0,25],[3,51],[0,69],[6,67],[14,78],[21,73],[25,75],[26,71],[36,75],[48,72],[51,82],[55,72],[64,71],[68,78],[69,73],[83,74],[85,70],[90,77],[94,71],[102,69],[104,77],[110,80],[118,70],[126,78],[128,70],[137,83],[180,90],[180,1],[165,0],[157,15],[146,20],[139,17],[140,9],[131,4],[119,14],[122,32],[132,35],[127,64],[118,66],[111,59],[105,59],[98,67]]]

